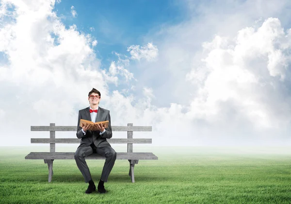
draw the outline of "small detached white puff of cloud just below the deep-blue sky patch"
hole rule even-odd
[[[142,47],[139,45],[131,45],[128,47],[127,51],[129,51],[131,59],[146,59],[147,61],[155,60],[159,53],[157,46],[153,45],[152,43],[147,43]]]

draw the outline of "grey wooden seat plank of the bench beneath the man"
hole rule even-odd
[[[75,159],[75,153],[59,152],[59,153],[36,153],[32,152],[25,156],[25,159]],[[105,159],[97,153],[93,153],[86,159]],[[116,153],[116,159],[126,160],[156,160],[158,157],[153,153]]]

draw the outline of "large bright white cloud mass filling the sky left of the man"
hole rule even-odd
[[[0,51],[8,61],[0,63],[0,86],[6,87],[0,109],[10,112],[1,123],[13,128],[19,122],[19,144],[29,144],[24,136],[31,136],[31,125],[76,124],[76,111],[88,105],[84,99],[92,86],[108,94],[93,38],[75,25],[66,29],[50,1],[37,2],[14,2],[13,20],[0,27]]]

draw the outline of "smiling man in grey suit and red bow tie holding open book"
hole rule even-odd
[[[92,193],[96,190],[96,186],[92,180],[90,170],[86,164],[85,157],[92,154],[98,153],[106,157],[104,167],[101,174],[101,179],[98,184],[98,191],[105,193],[104,182],[107,182],[108,176],[113,168],[116,152],[113,150],[111,145],[107,142],[107,139],[112,137],[112,128],[109,110],[100,108],[99,102],[101,94],[93,88],[88,94],[88,101],[90,106],[79,111],[78,116],[78,129],[77,137],[81,139],[81,144],[75,152],[75,160],[79,170],[81,171],[85,182],[89,183],[88,189],[85,193]],[[96,125],[97,131],[88,130],[91,125],[86,124],[80,127],[80,119],[90,120],[92,122],[109,120],[108,127]]]

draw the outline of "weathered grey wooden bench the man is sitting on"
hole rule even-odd
[[[55,123],[50,123],[49,126],[31,126],[31,131],[49,131],[49,138],[31,138],[31,143],[49,143],[50,152],[32,152],[25,156],[25,159],[44,159],[45,164],[49,167],[49,182],[51,182],[53,171],[52,163],[54,159],[75,159],[74,152],[55,152],[56,143],[78,143],[79,138],[56,138],[56,131],[75,131],[76,126],[55,126]],[[107,139],[110,144],[128,144],[127,153],[116,153],[116,159],[129,160],[129,176],[131,182],[134,183],[134,165],[138,164],[139,160],[151,160],[158,159],[153,153],[133,153],[133,143],[136,144],[151,144],[151,138],[133,138],[133,131],[152,131],[151,126],[133,126],[132,123],[128,123],[128,126],[112,126],[112,131],[127,131],[128,138],[111,138]],[[113,135],[114,136],[114,135]],[[85,159],[105,159],[104,156],[100,156],[97,153],[93,153]]]

